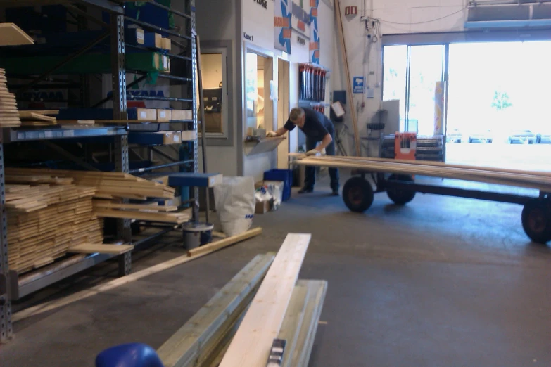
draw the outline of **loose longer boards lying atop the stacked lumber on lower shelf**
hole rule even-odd
[[[173,199],[175,188],[154,181],[141,179],[120,172],[68,171],[60,169],[7,168],[6,174],[12,182],[19,184],[53,183],[71,180],[77,186],[95,188],[94,214],[97,217],[140,219],[182,224],[189,221],[191,211],[175,211],[177,208],[144,205],[122,205],[121,199],[147,200],[148,198]]]

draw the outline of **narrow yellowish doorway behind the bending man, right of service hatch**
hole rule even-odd
[[[289,118],[289,61],[277,59],[277,129]],[[289,139],[277,146],[277,168],[289,168]]]

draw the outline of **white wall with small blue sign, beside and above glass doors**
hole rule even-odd
[[[365,3],[365,4],[364,4]],[[357,6],[358,14],[345,16],[346,6]],[[452,32],[464,30],[464,20],[467,10],[467,0],[341,0],[341,13],[343,15],[343,28],[348,50],[348,65],[350,77],[367,77],[367,86],[375,88],[374,98],[365,98],[363,94],[355,94],[353,103],[347,92],[347,116],[346,124],[352,132],[352,117],[350,107],[356,103],[365,102],[363,112],[357,114],[360,136],[366,136],[365,124],[371,119],[376,110],[381,108],[382,91],[376,87],[382,83],[382,56],[381,41],[372,43],[367,40],[365,23],[360,22],[360,17],[365,9],[367,16],[381,20],[380,34],[403,34],[425,32]],[[455,13],[455,14],[453,14]],[[453,15],[451,15],[453,14]],[[448,16],[450,15],[450,16]],[[437,20],[438,18],[442,18]],[[403,23],[403,24],[395,24]],[[341,41],[335,32],[336,52],[335,65],[343,65],[341,57]],[[369,72],[374,72],[369,75]],[[346,90],[344,68],[336,67],[332,75],[333,87],[336,90]],[[345,141],[348,154],[354,154],[353,137]]]

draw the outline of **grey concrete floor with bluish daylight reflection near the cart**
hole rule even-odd
[[[329,281],[310,366],[551,366],[551,248],[528,241],[520,206],[419,195],[395,207],[377,194],[354,214],[318,190],[255,217],[262,236],[15,323],[0,366],[93,366],[106,347],[159,347],[288,232],[312,233],[300,278]],[[180,252],[176,235],[163,243],[171,245],[134,267]],[[23,304],[105,281],[114,269]]]

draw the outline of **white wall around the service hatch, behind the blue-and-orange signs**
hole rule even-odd
[[[294,0],[298,4],[298,0]],[[250,3],[250,4],[249,4]],[[305,7],[309,1],[304,1]],[[252,36],[252,40],[243,38],[243,52],[251,46],[265,53],[270,53],[274,58],[278,56],[289,60],[289,105],[295,107],[298,105],[298,64],[308,63],[310,54],[308,50],[308,39],[305,45],[298,43],[298,34],[293,32],[291,38],[291,54],[288,55],[282,51],[274,49],[274,1],[267,1],[267,9],[253,1],[246,1],[243,4],[243,32]],[[318,22],[322,44],[320,45],[320,63],[322,66],[333,70],[333,53],[334,53],[334,13],[333,8],[327,6],[324,1],[319,1],[318,6]],[[301,38],[304,37],[301,35]],[[274,60],[277,61],[277,60]],[[277,62],[274,62],[274,77],[277,82]],[[330,84],[327,87],[327,96],[332,90],[332,78],[329,79]],[[243,81],[244,82],[244,81]],[[329,98],[328,98],[329,101]],[[277,122],[277,108],[274,108],[276,115],[274,116],[274,129]],[[267,127],[268,129],[268,127]],[[296,151],[298,146],[297,130],[289,133],[288,139],[291,146],[291,151]],[[246,131],[243,132],[246,134]],[[244,139],[244,135],[243,135]],[[286,144],[286,143],[283,143]],[[243,162],[243,173],[254,176],[255,180],[262,179],[262,173],[271,168],[275,168],[276,150],[270,153],[262,153],[259,155],[246,156]]]

